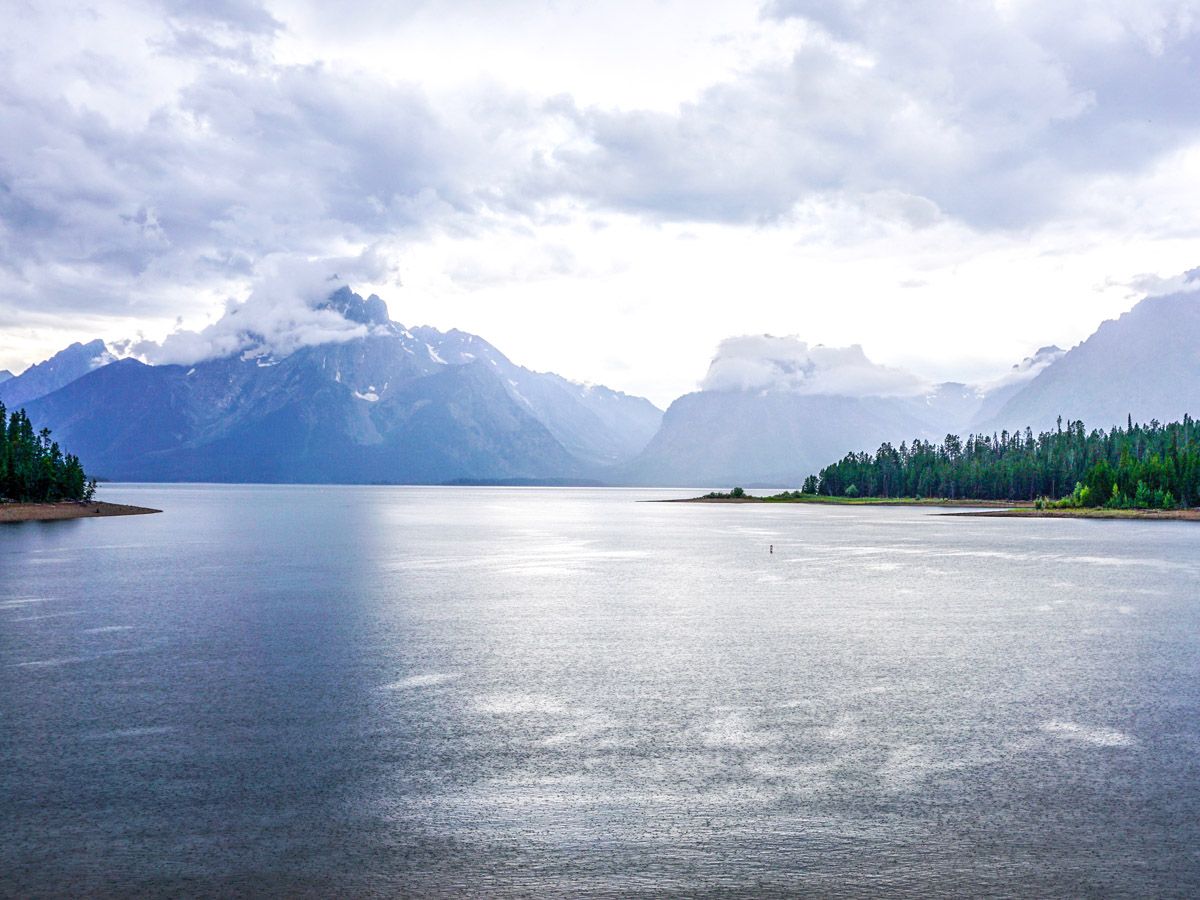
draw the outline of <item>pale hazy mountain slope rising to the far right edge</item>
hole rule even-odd
[[[1200,414],[1200,293],[1147,298],[982,410],[983,431],[1090,428]]]

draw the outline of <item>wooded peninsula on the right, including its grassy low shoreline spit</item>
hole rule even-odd
[[[1200,521],[1200,428],[1187,415],[1168,425],[1130,418],[1110,432],[1087,432],[1081,421],[1063,428],[1060,420],[1037,437],[1026,428],[966,442],[947,434],[941,444],[886,443],[875,454],[847,454],[798,491],[755,497],[734,487],[685,502],[995,506],[949,515]]]

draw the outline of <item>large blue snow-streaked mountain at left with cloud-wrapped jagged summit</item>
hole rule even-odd
[[[192,361],[118,360],[28,412],[116,480],[415,484],[594,478],[661,415],[516,366],[474,335],[409,330],[349,288],[292,313],[240,305],[157,348]]]

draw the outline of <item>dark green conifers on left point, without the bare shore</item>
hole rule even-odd
[[[8,415],[0,403],[0,500],[90,500],[95,490],[78,457],[64,455],[48,428],[35,432],[24,409]]]

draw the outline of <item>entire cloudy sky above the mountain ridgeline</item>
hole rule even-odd
[[[1200,0],[10,0],[0,368],[336,269],[644,394],[990,379],[1198,264]]]

